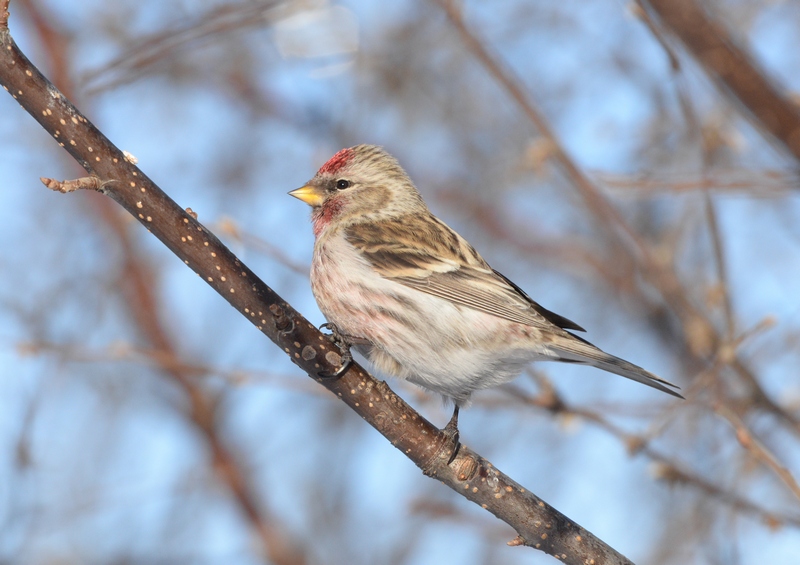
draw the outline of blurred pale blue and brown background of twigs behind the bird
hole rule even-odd
[[[800,5],[703,6],[797,96]],[[554,136],[432,1],[13,0],[10,28],[314,323],[286,193],[384,145],[493,267],[687,397],[540,364],[478,394],[462,440],[636,562],[796,562],[797,163],[637,4],[460,8]],[[0,563],[553,562],[110,200],[47,191],[82,171],[0,94]]]

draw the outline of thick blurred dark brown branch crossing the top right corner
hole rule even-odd
[[[696,0],[639,0],[650,6],[726,92],[800,160],[800,108],[766,78],[764,70],[736,45]]]

